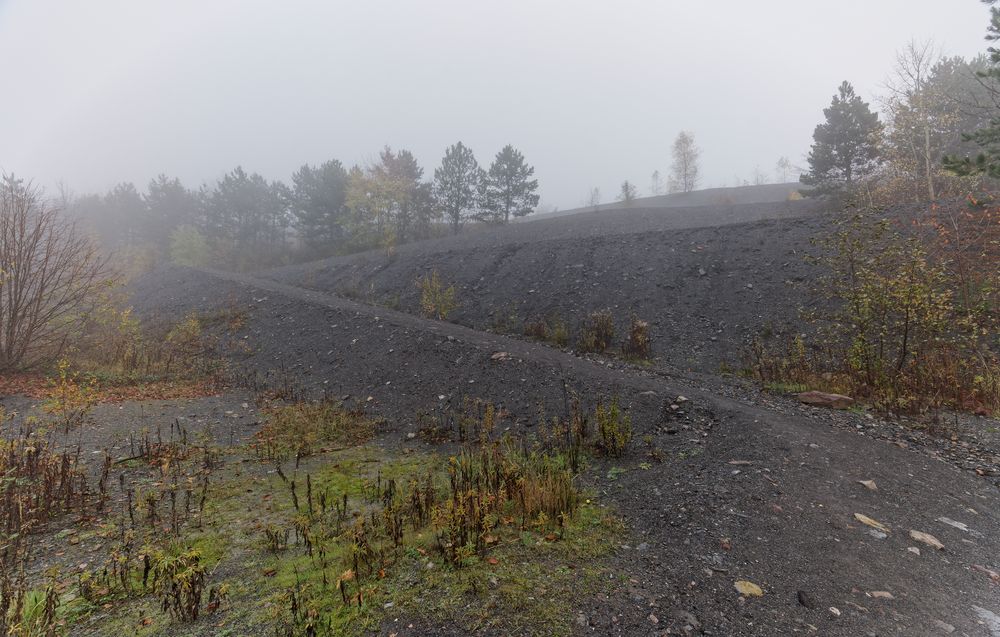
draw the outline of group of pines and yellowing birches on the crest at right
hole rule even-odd
[[[814,195],[864,205],[933,201],[978,187],[969,178],[989,177],[989,162],[982,153],[966,158],[992,145],[976,131],[995,126],[996,68],[989,55],[946,57],[933,42],[912,42],[896,56],[878,111],[844,81],[813,133],[801,182]]]

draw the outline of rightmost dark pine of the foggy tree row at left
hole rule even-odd
[[[497,153],[484,181],[485,221],[509,223],[510,218],[530,214],[538,205],[538,180],[533,166],[510,144]]]

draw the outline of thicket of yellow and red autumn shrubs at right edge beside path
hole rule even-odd
[[[900,221],[907,223],[900,224]],[[848,393],[890,412],[1000,409],[1000,209],[970,202],[916,218],[856,213],[817,241],[827,274],[814,328],[766,346],[749,371],[764,383]]]

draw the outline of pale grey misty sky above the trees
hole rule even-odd
[[[511,143],[569,208],[645,194],[687,129],[702,185],[734,185],[804,164],[842,80],[870,99],[909,40],[971,57],[987,22],[978,0],[0,0],[0,169],[196,187],[390,144],[429,177],[457,140],[482,164]]]

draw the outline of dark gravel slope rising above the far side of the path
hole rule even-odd
[[[520,331],[524,320],[558,317],[575,332],[590,312],[611,308],[619,333],[632,314],[650,323],[662,365],[718,372],[738,367],[746,343],[765,326],[785,329],[806,302],[810,238],[831,223],[815,206],[581,214],[261,276],[417,312],[415,281],[436,270],[457,288],[454,322]],[[691,227],[709,223],[722,225]]]

